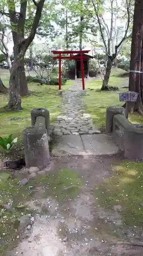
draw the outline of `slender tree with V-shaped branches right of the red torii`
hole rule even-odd
[[[124,40],[126,39],[128,29],[129,29],[129,24],[130,24],[130,7],[131,7],[131,0],[126,0],[126,7],[124,8],[124,13],[127,12],[127,24],[125,28],[125,33],[118,43],[118,45],[115,46],[115,51],[111,53],[111,42],[112,39],[115,37],[116,33],[116,28],[115,28],[115,22],[117,19],[117,14],[120,13],[120,8],[118,6],[117,0],[109,0],[109,8],[108,8],[108,15],[110,15],[110,26],[107,25],[107,22],[104,18],[104,11],[103,8],[105,8],[105,4],[107,5],[107,2],[102,1],[100,2],[94,2],[94,0],[91,0],[97,21],[98,21],[98,26],[101,34],[101,38],[103,41],[103,46],[104,46],[104,51],[107,56],[107,63],[106,63],[106,70],[105,70],[105,75],[102,83],[101,90],[108,90],[108,81],[111,73],[111,67],[113,60],[117,57],[118,51],[120,50],[120,47],[122,46]],[[120,4],[121,6],[121,4]],[[107,7],[106,7],[107,8]],[[119,15],[118,14],[118,15]],[[123,14],[122,14],[123,15]],[[105,32],[105,34],[104,34]],[[106,35],[106,36],[105,36]],[[106,39],[107,38],[107,39]],[[112,49],[113,50],[113,49]]]

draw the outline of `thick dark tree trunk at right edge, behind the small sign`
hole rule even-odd
[[[143,115],[142,73],[143,72],[143,2],[136,0],[133,15],[133,30],[131,43],[131,60],[129,73],[129,90],[139,93],[137,101],[130,104],[131,111],[138,111]],[[133,72],[132,72],[133,71]],[[136,71],[136,72],[134,72]]]

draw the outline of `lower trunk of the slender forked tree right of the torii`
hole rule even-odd
[[[103,83],[102,83],[102,87],[101,90],[108,90],[108,81],[109,81],[109,77],[110,77],[110,73],[111,73],[111,68],[112,68],[112,59],[111,57],[108,57],[107,60],[107,66],[106,66],[106,70],[105,70],[105,75],[104,75],[104,79],[103,79]]]

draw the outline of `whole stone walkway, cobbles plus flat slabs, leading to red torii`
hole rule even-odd
[[[81,97],[81,81],[75,84],[62,99],[62,114],[54,126],[54,156],[113,155],[119,152],[112,138],[94,126],[92,117],[85,114],[85,104]],[[86,96],[85,96],[86,97]]]

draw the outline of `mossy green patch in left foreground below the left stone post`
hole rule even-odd
[[[36,213],[26,206],[27,201],[52,197],[59,202],[75,198],[79,194],[82,180],[77,177],[74,170],[63,169],[54,175],[40,175],[37,179],[31,180],[27,185],[19,186],[19,178],[14,178],[8,173],[0,174],[0,255],[6,256],[6,252],[14,244],[19,227],[19,218],[24,214]],[[71,184],[76,187],[71,187]],[[5,205],[10,203],[13,211],[6,210]],[[42,214],[42,209],[40,210]],[[44,212],[43,212],[44,214]]]

